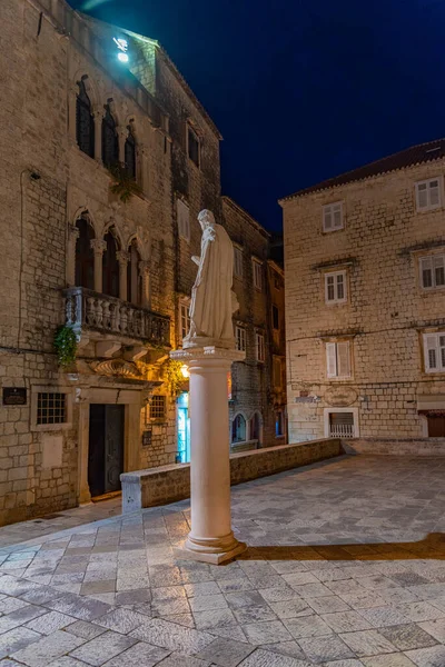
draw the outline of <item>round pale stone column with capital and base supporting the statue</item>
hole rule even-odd
[[[219,565],[246,549],[231,530],[227,374],[245,352],[214,346],[170,352],[190,372],[191,530],[178,558]]]

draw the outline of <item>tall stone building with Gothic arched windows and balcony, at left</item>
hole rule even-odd
[[[220,211],[220,137],[157,42],[63,0],[4,0],[1,18],[4,524],[177,459],[168,351],[196,215]],[[66,368],[60,326],[78,337]]]

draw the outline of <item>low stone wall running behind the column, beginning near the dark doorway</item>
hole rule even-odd
[[[241,484],[342,454],[340,440],[334,438],[241,451],[230,455],[230,481],[233,485]],[[190,496],[189,464],[123,472],[120,480],[122,482],[122,512],[166,505]]]

